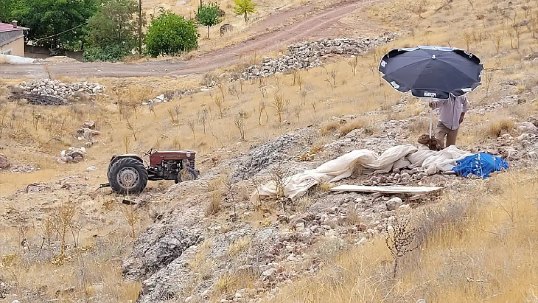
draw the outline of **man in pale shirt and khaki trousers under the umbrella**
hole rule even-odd
[[[435,138],[444,149],[456,144],[459,124],[463,122],[467,111],[467,97],[455,97],[450,94],[448,99],[437,99],[430,102],[431,108],[439,108],[439,123],[435,128]],[[445,143],[445,138],[447,139]]]

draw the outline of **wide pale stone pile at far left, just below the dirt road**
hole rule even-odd
[[[104,86],[93,82],[61,82],[58,80],[37,79],[23,81],[13,89],[13,94],[25,98],[30,103],[40,105],[66,104],[69,98],[82,95],[95,96],[104,91]]]

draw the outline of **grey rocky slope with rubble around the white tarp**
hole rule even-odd
[[[393,110],[402,109],[403,102],[394,105]],[[351,121],[356,117],[335,119]],[[294,173],[316,167],[351,150],[367,148],[382,152],[409,142],[407,129],[416,118],[379,122],[376,129],[385,131],[370,137],[362,135],[360,129],[352,131],[325,144],[324,151],[311,162],[298,161],[296,155],[289,152],[307,151],[320,136],[313,128],[300,129],[224,161],[199,180],[172,186],[160,199],[181,198],[173,205],[173,210],[162,214],[161,219],[138,238],[123,264],[126,278],[143,281],[138,301],[259,301],[266,295],[271,297],[281,286],[299,276],[315,274],[323,266],[320,256],[382,235],[399,210],[414,208],[434,198],[412,201],[398,195],[327,195],[314,190],[305,198],[289,201],[285,213],[278,203],[264,202],[265,209],[272,209],[260,221],[252,217],[256,211],[249,201],[253,189],[250,180],[253,176],[266,180],[268,168],[277,162],[284,163]],[[525,124],[529,128],[521,125],[518,124],[519,130],[501,135],[487,146],[477,146],[476,151],[487,150],[505,158],[511,157],[513,167],[526,165],[535,157],[538,140],[529,124]],[[507,149],[510,152],[507,153]],[[225,190],[222,190],[222,213],[216,217],[204,214],[212,194],[207,191],[208,182],[222,176],[221,172],[226,168],[233,168],[230,175],[237,181],[234,194],[236,221],[232,220],[234,202]],[[443,186],[445,191],[460,191],[471,182],[454,175],[427,176],[410,170],[359,175],[341,183]],[[237,249],[238,246],[241,248]],[[250,277],[251,280],[250,284],[228,281],[230,285],[224,287],[223,283],[232,279],[230,277]]]

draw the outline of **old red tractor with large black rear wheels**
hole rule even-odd
[[[176,183],[197,179],[200,171],[194,168],[195,151],[151,149],[145,156],[150,157],[150,165],[136,154],[113,156],[108,166],[108,183],[118,194],[138,194],[144,190],[147,180],[174,180]]]

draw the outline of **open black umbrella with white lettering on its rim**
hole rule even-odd
[[[462,96],[480,86],[482,69],[475,55],[441,46],[397,48],[379,64],[383,79],[398,91],[439,99]]]

